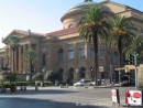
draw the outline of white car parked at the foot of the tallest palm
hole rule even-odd
[[[92,86],[92,80],[91,79],[80,79],[79,82],[75,83],[74,86]]]

